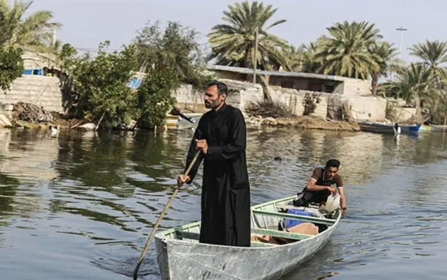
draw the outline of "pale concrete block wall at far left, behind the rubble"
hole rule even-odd
[[[64,112],[60,80],[57,77],[24,75],[14,81],[9,91],[0,91],[1,103],[13,104],[19,101],[36,104],[44,110]]]

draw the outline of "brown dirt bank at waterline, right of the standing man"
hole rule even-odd
[[[262,118],[247,117],[246,122],[254,126],[291,127],[304,129],[360,131],[358,124],[354,122],[327,121],[323,118],[313,116],[296,116],[291,118]]]

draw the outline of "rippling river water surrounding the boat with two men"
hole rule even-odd
[[[191,136],[0,130],[2,279],[131,279]],[[348,215],[326,246],[285,278],[445,279],[446,138],[250,129],[252,204],[293,195],[313,166],[342,162]],[[201,171],[162,229],[200,219]],[[154,248],[140,279],[160,279]]]

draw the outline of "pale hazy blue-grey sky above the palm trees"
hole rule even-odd
[[[12,1],[10,1],[12,2]],[[76,48],[96,49],[109,40],[110,49],[129,44],[148,21],[179,21],[201,33],[199,43],[207,42],[210,28],[222,23],[222,11],[235,0],[34,0],[30,12],[51,10],[54,21],[63,24],[57,39]],[[240,2],[240,1],[239,1]],[[438,0],[266,0],[278,11],[272,20],[287,21],[270,32],[299,46],[327,34],[326,27],[342,21],[376,23],[384,40],[399,48],[398,27],[406,28],[402,37],[402,59],[410,61],[408,47],[425,40],[447,41],[447,2]],[[442,31],[444,30],[444,31]],[[441,32],[442,31],[442,32]],[[415,58],[413,58],[415,60]]]

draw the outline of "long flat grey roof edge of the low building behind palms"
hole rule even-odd
[[[207,65],[207,68],[209,70],[220,70],[220,71],[228,71],[228,72],[241,73],[241,74],[253,74],[253,69],[250,69],[250,68],[225,66],[225,65]],[[282,72],[282,71],[257,70],[256,74],[277,76],[277,77],[297,77],[297,78],[321,79],[321,80],[331,80],[331,81],[341,81],[341,82],[345,81],[345,79],[343,77],[332,76],[332,75],[313,74],[313,73],[302,73],[302,72],[287,72],[287,71]]]

